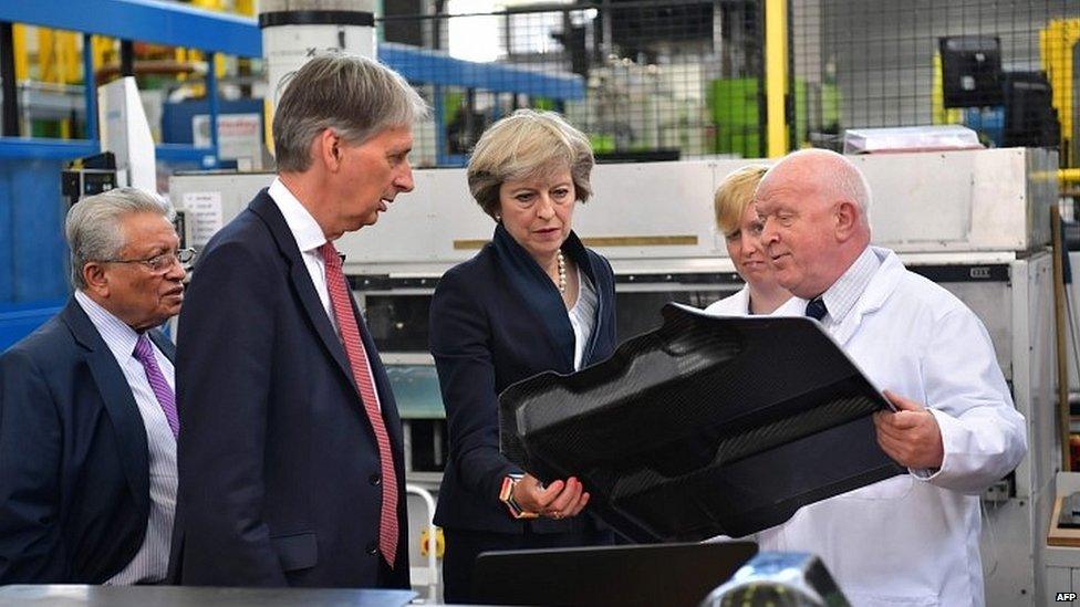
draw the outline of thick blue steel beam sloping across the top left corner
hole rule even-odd
[[[255,19],[158,0],[2,0],[0,21],[262,56]]]

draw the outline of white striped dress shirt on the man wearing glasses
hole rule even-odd
[[[121,586],[162,582],[168,572],[173,516],[176,512],[176,438],[173,437],[165,411],[162,410],[162,405],[146,379],[143,364],[135,358],[138,333],[97,305],[82,291],[75,291],[75,301],[90,316],[90,322],[97,328],[97,333],[116,358],[116,364],[124,371],[124,378],[132,388],[132,396],[135,397],[138,415],[143,418],[143,427],[146,428],[150,481],[150,510],[146,520],[146,537],[143,538],[143,545],[131,563],[105,584]],[[173,363],[162,354],[153,341],[150,345],[157,366],[175,394],[176,374]]]

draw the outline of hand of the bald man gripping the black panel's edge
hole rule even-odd
[[[942,429],[921,404],[885,390],[896,411],[874,414],[878,444],[896,463],[907,468],[941,468],[945,459]]]

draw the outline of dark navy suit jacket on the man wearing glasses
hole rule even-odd
[[[124,371],[72,297],[0,356],[0,584],[120,573],[146,534],[147,459]]]

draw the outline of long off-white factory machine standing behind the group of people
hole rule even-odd
[[[1080,548],[1049,548],[1046,540],[1061,469],[1048,248],[1057,157],[1007,148],[852,159],[874,191],[874,243],[895,250],[910,269],[979,315],[1027,419],[1028,457],[983,495],[988,604],[1041,605],[1080,587],[1071,585],[1080,582]],[[668,301],[705,306],[741,286],[715,227],[712,196],[727,172],[747,161],[595,168],[593,198],[575,211],[574,230],[611,260],[620,341],[657,326]],[[272,178],[172,177],[170,196],[185,212],[188,244],[205,244]],[[442,273],[475,254],[494,224],[469,196],[463,169],[418,170],[415,181],[416,189],[399,196],[376,227],[346,234],[339,249],[394,383],[406,426],[408,480],[434,489],[445,462],[446,429],[427,346],[428,306]]]

